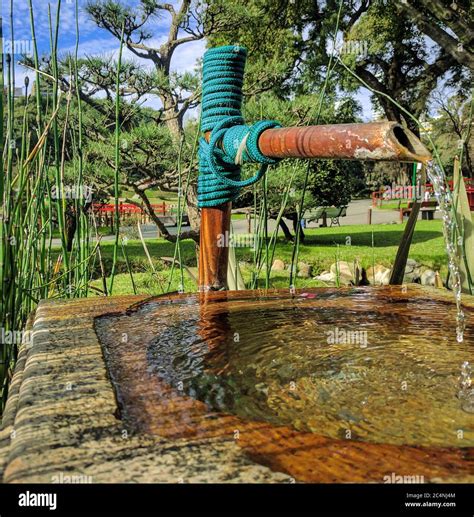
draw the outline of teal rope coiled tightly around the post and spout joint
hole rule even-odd
[[[239,46],[218,47],[204,54],[201,131],[211,131],[209,143],[199,141],[198,205],[217,206],[234,200],[242,187],[257,182],[268,165],[258,148],[263,131],[280,127],[263,120],[246,126],[242,118],[242,87],[247,50]],[[255,176],[241,180],[241,164],[262,164]]]

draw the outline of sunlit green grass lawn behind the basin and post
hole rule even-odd
[[[306,242],[300,246],[300,260],[313,266],[314,274],[319,274],[329,269],[331,264],[339,260],[352,262],[358,260],[362,267],[368,268],[373,262],[387,267],[393,264],[397,252],[404,225],[358,225],[342,226],[338,228],[315,228],[306,231]],[[372,232],[374,246],[372,248]],[[134,279],[138,292],[141,294],[159,294],[168,286],[170,267],[159,260],[159,257],[173,256],[174,244],[163,239],[147,240],[148,250],[153,257],[156,274],[152,274],[150,266],[143,252],[140,241],[130,240],[127,244],[129,261],[134,272]],[[112,264],[113,242],[103,242],[101,245],[104,262],[108,271]],[[188,267],[196,267],[196,252],[192,241],[181,243],[183,263]],[[251,276],[251,264],[253,251],[249,248],[236,248],[237,258],[241,262],[244,279],[248,281]],[[283,260],[286,264],[291,261],[292,244],[279,239],[275,251],[275,258]],[[441,269],[446,272],[446,256],[444,241],[441,233],[440,221],[419,221],[416,226],[410,258],[418,263],[433,269]],[[132,284],[127,272],[125,261],[120,255],[118,272],[115,279],[114,294],[132,293]],[[195,272],[195,271],[194,271]],[[264,276],[262,272],[261,276]],[[196,285],[188,274],[184,273],[184,289],[196,290]],[[273,287],[287,287],[289,283],[288,273],[272,273],[271,284]],[[180,284],[180,272],[176,269],[171,283],[172,290],[178,290]],[[93,285],[100,288],[100,280]],[[318,281],[298,279],[298,287],[314,287],[321,285]]]

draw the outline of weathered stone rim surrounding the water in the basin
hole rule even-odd
[[[369,291],[379,289],[387,288],[367,288]],[[395,289],[400,290],[399,287]],[[449,291],[407,286],[406,295],[417,293],[453,301]],[[294,440],[290,456],[278,456],[268,447],[259,453],[273,455],[271,468],[262,466],[259,454],[252,451],[244,458],[233,439],[225,442],[199,438],[175,441],[134,435],[124,441],[120,434],[122,423],[115,416],[114,391],[94,320],[104,315],[124,314],[127,309],[133,310],[150,299],[164,300],[173,296],[188,295],[127,295],[40,302],[36,319],[33,317],[31,322],[33,345],[20,346],[0,427],[0,482],[51,483],[52,475],[71,471],[91,475],[96,483],[170,483],[179,482],[179,479],[195,483],[290,483],[294,479],[316,483],[382,483],[382,476],[390,472],[423,474],[425,482],[474,483],[474,450],[466,449],[460,456],[459,450],[429,451],[407,447],[403,451],[399,447],[375,448],[365,447],[367,444],[360,446],[325,440],[311,452],[317,468],[309,473],[307,469],[298,470],[295,460],[306,454],[308,444],[284,432],[276,439],[290,436]],[[227,292],[225,296],[232,295]],[[463,300],[465,307],[474,308],[474,297],[464,296]],[[80,339],[75,341],[69,330],[72,320],[82,329]],[[84,353],[90,374],[86,378],[83,375]],[[61,391],[59,400],[54,394],[58,392],[56,379],[62,379],[61,382],[67,379],[73,384],[80,381],[81,389]],[[45,398],[50,392],[53,395]],[[96,395],[91,395],[94,393]],[[36,418],[31,420],[29,415]],[[16,431],[15,440],[11,439],[13,430]],[[50,452],[45,454],[45,451]],[[202,468],[203,464],[206,469]],[[295,476],[287,474],[292,470]]]

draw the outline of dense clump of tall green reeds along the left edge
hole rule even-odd
[[[72,91],[61,94],[58,40],[61,0],[56,11],[48,9],[51,52],[51,76],[43,78],[36,41],[35,13],[28,0],[35,92],[25,82],[24,98],[15,97],[15,56],[4,55],[0,46],[0,319],[4,334],[17,335],[36,305],[45,298],[85,296],[91,268],[99,244],[90,249],[89,218],[85,214],[81,193],[86,192],[82,157],[82,109],[78,93],[78,0],[76,0],[76,53],[70,58],[69,74],[74,76],[79,127],[71,121],[69,109]],[[10,5],[10,23],[14,3]],[[0,32],[2,31],[0,20]],[[12,34],[12,32],[10,32]],[[1,36],[2,34],[0,34]],[[13,37],[13,34],[12,34]],[[0,45],[2,39],[0,37]],[[14,44],[12,42],[12,48]],[[47,85],[43,95],[42,85]],[[72,88],[72,87],[71,87]],[[3,94],[5,89],[5,94]],[[35,122],[28,118],[34,103]],[[66,111],[64,119],[61,109]],[[72,135],[72,163],[75,165],[74,207],[65,196],[65,139]],[[53,187],[55,196],[52,195]],[[66,210],[77,218],[77,233],[72,249],[67,248]],[[59,231],[60,252],[53,249],[55,230]],[[18,354],[18,342],[0,343],[0,413],[8,395],[8,386]],[[13,340],[14,341],[14,340]]]

